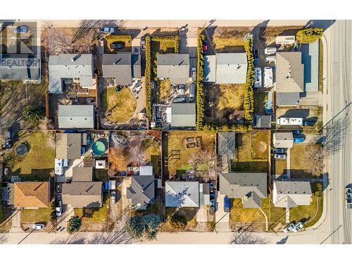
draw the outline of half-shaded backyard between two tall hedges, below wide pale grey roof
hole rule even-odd
[[[206,122],[225,125],[238,122],[244,112],[244,84],[214,84],[204,89]]]

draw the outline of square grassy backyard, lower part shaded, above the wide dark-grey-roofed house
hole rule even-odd
[[[237,150],[232,170],[236,172],[268,172],[270,131],[253,130],[236,135]]]

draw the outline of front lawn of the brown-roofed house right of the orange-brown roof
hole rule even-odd
[[[75,208],[82,222],[107,222],[108,221],[108,194],[103,195],[103,206],[97,208]]]

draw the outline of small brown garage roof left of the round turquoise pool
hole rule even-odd
[[[81,158],[80,133],[56,133],[56,158],[76,160]]]

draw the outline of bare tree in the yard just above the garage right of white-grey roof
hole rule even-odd
[[[204,180],[215,180],[218,173],[221,172],[216,156],[209,151],[192,153],[188,161],[191,165],[191,170],[196,172],[196,177]]]

